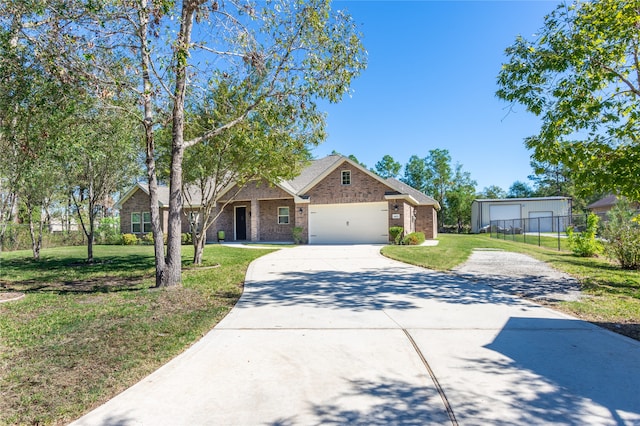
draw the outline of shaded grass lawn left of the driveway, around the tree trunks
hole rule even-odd
[[[248,264],[271,250],[207,246],[184,285],[153,286],[151,246],[97,246],[2,253],[0,424],[65,424],[182,352],[236,303]]]

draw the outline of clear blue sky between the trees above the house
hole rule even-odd
[[[525,137],[540,121],[495,96],[504,49],[530,39],[556,1],[336,1],[359,24],[368,68],[339,104],[321,104],[327,140],[316,157],[353,154],[374,167],[385,154],[448,149],[477,181],[507,190],[528,182]],[[402,172],[401,172],[402,173]]]

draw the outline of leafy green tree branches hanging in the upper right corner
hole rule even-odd
[[[534,40],[506,49],[498,97],[541,116],[525,140],[536,161],[564,164],[582,194],[640,199],[640,1],[562,3]]]

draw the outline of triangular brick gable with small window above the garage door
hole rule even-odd
[[[342,171],[351,171],[351,185],[342,184]],[[306,194],[313,204],[371,203],[385,201],[389,187],[348,163],[336,168]]]

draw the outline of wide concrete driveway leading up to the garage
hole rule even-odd
[[[379,249],[258,259],[216,328],[75,424],[640,424],[640,343]]]

